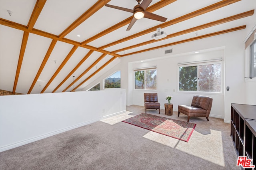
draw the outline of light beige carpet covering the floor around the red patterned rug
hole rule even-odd
[[[240,170],[222,119],[192,117],[189,142],[136,127],[122,120],[144,112],[127,112],[0,153],[1,170]],[[156,110],[148,114],[159,115]],[[160,116],[186,121],[174,112]]]

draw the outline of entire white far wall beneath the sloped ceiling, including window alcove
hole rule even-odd
[[[249,29],[248,29],[249,30]],[[122,82],[121,87],[126,89],[126,105],[138,104],[141,105],[143,101],[140,94],[141,92],[133,89],[133,76],[132,76],[132,65],[138,61],[150,61],[154,60],[154,65],[157,65],[157,79],[158,85],[162,84],[157,91],[160,93],[158,99],[160,99],[161,105],[166,102],[164,101],[165,95],[173,95],[172,103],[174,103],[174,109],[177,109],[178,104],[190,103],[192,99],[191,93],[177,93],[173,92],[173,89],[177,89],[177,62],[182,57],[186,57],[188,53],[195,51],[207,51],[208,49],[224,49],[224,98],[220,95],[213,97],[213,108],[211,115],[221,116],[224,118],[224,122],[230,123],[230,108],[231,103],[243,103],[243,104],[254,104],[255,101],[255,83],[245,83],[244,81],[244,38],[248,33],[248,30],[240,30],[219,36],[210,38],[204,38],[193,42],[182,43],[173,45],[171,47],[165,47],[162,49],[152,50],[136,55],[130,55],[121,58],[121,76]],[[164,50],[173,49],[173,53],[169,56],[170,59],[166,61],[160,61],[166,57]],[[173,58],[172,58],[173,57]],[[191,58],[191,60],[195,57]],[[190,61],[190,60],[188,60]],[[143,65],[142,65],[143,66]],[[163,73],[163,74],[162,74]],[[172,75],[174,74],[174,75]],[[168,78],[169,77],[169,78]],[[169,81],[167,80],[169,79]],[[229,91],[226,91],[226,86],[230,87]],[[254,87],[253,87],[254,86]],[[247,89],[248,87],[248,89]],[[166,91],[168,89],[168,91]],[[252,90],[252,94],[248,95]],[[247,92],[246,92],[247,91]],[[136,96],[135,96],[136,95]],[[138,98],[140,96],[140,98]],[[216,105],[218,102],[218,105]],[[163,106],[163,105],[162,105]]]

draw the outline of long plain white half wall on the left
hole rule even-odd
[[[0,152],[126,111],[125,90],[0,96]]]

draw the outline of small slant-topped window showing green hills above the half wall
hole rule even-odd
[[[105,79],[104,87],[105,87],[105,89],[120,88],[121,87],[121,72],[116,71],[116,73],[112,74],[110,77]]]

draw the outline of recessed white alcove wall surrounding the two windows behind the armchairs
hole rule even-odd
[[[224,118],[224,87],[222,87],[222,93],[213,94],[213,93],[185,93],[178,92],[178,74],[179,67],[178,63],[180,62],[189,62],[189,61],[204,61],[209,59],[224,59],[224,48],[212,49],[211,51],[201,51],[200,53],[191,53],[184,55],[174,55],[160,57],[158,59],[144,61],[144,62],[135,62],[132,63],[132,70],[136,68],[157,66],[157,90],[139,90],[134,89],[134,76],[132,76],[133,84],[133,104],[134,105],[144,105],[143,93],[158,93],[158,102],[161,104],[161,109],[164,109],[164,103],[167,103],[165,97],[166,95],[172,95],[171,103],[174,104],[174,111],[178,111],[178,105],[190,105],[193,95],[204,95],[212,97],[214,102],[211,110],[210,117]],[[223,69],[224,71],[224,69]],[[224,73],[222,74],[224,77]],[[223,82],[224,82],[224,78]],[[224,83],[223,83],[224,84]]]

